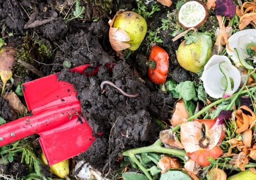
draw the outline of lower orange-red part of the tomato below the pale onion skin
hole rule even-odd
[[[210,162],[208,161],[208,157],[212,157],[213,159],[216,159],[220,155],[222,155],[222,149],[219,146],[215,146],[212,149],[207,148],[201,148],[198,151],[195,151],[193,153],[187,153],[195,162],[197,162],[201,166],[208,166],[210,165]]]

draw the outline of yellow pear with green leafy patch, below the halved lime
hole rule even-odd
[[[179,45],[176,52],[178,63],[187,71],[198,72],[210,59],[212,41],[210,36],[197,32],[188,44],[187,40]]]

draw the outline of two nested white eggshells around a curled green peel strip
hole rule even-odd
[[[224,74],[219,69],[219,63],[226,62],[230,67],[229,76],[233,78],[234,86],[229,94],[233,94],[238,90],[241,82],[240,72],[234,67],[227,56],[213,55],[204,67],[201,80],[203,81],[206,93],[212,98],[222,98],[225,88],[222,85],[222,78]]]

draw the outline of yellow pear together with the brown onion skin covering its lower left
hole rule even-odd
[[[145,19],[132,11],[118,11],[109,24],[110,44],[118,53],[123,49],[138,49],[147,31]]]

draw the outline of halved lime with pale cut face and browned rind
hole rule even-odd
[[[199,28],[209,16],[206,4],[201,1],[192,0],[184,3],[178,12],[178,22],[185,29],[190,27]]]

